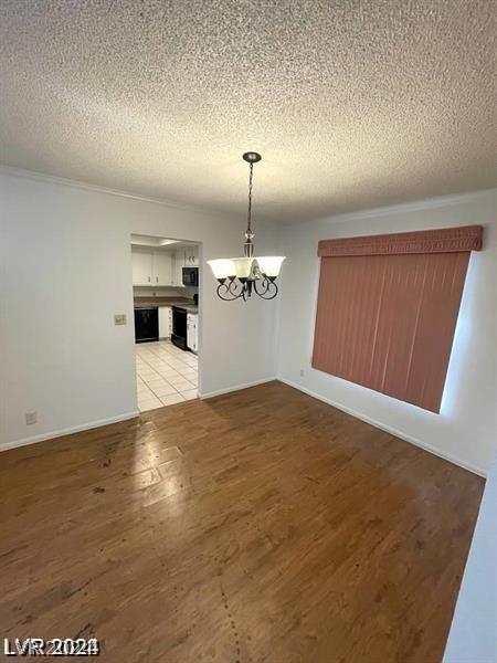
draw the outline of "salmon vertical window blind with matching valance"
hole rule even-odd
[[[313,367],[440,412],[482,228],[326,240]]]

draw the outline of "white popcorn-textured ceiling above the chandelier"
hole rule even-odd
[[[287,220],[496,181],[493,0],[0,0],[0,159]]]

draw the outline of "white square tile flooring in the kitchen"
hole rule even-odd
[[[140,412],[198,398],[198,358],[170,340],[136,344]]]

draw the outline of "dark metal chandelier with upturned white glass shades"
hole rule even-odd
[[[276,277],[279,274],[283,255],[254,256],[254,233],[252,232],[252,180],[254,164],[261,161],[257,152],[245,152],[243,159],[248,164],[248,211],[243,257],[220,257],[208,260],[214,277],[218,280],[218,296],[225,302],[242,298],[244,302],[255,293],[263,299],[274,299],[278,294]]]

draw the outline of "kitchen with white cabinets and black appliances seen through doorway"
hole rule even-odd
[[[198,398],[200,250],[195,242],[131,235],[140,412]]]

